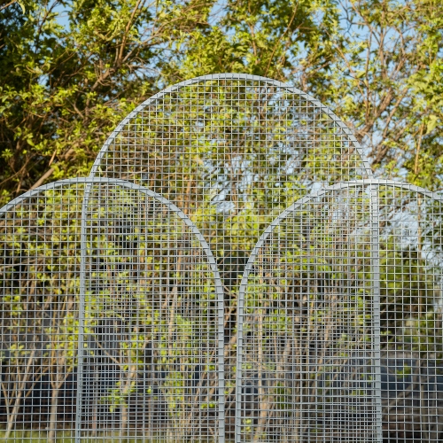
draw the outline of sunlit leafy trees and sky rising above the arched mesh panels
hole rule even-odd
[[[439,0],[74,0],[0,11],[0,204],[86,175],[129,110],[169,84],[289,82],[353,128],[384,176],[439,189]]]

